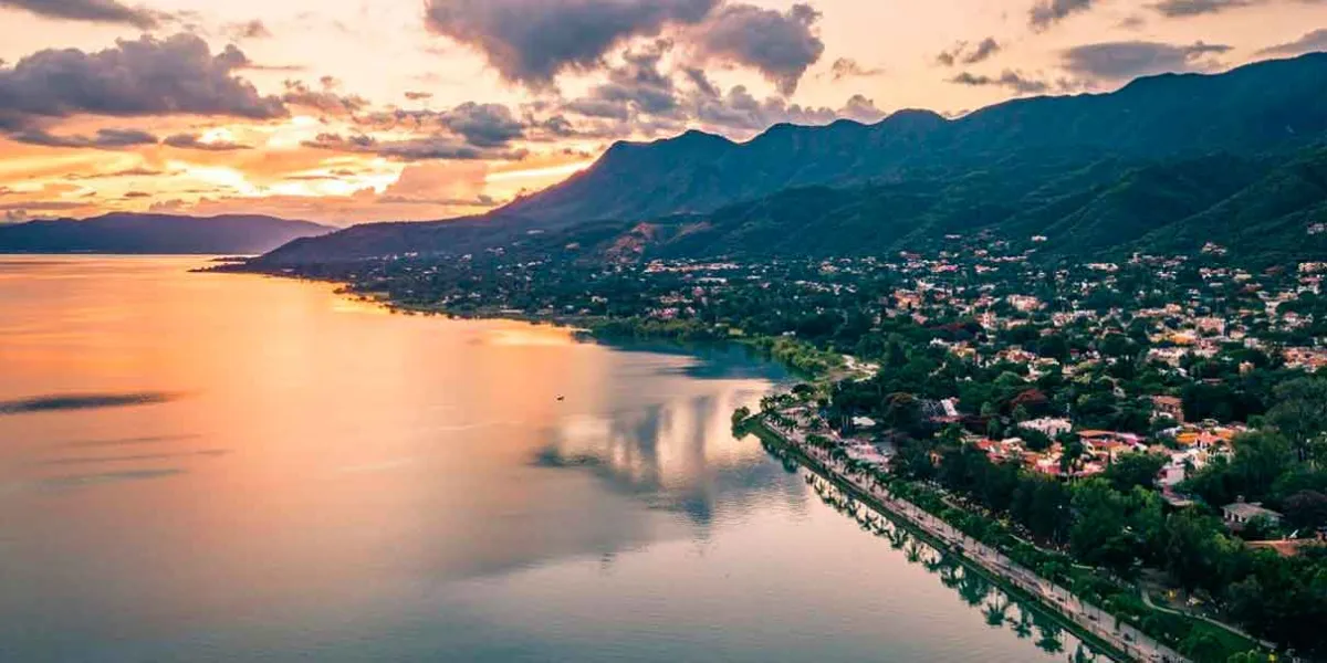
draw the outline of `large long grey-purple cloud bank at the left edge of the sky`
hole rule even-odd
[[[40,50],[0,68],[0,127],[76,114],[284,117],[281,99],[234,76],[247,61],[234,46],[214,56],[194,34],[119,40],[96,53]]]

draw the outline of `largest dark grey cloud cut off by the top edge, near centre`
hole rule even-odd
[[[625,40],[705,20],[719,0],[426,0],[430,30],[479,50],[504,78],[547,86]]]

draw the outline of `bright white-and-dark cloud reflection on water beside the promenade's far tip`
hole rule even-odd
[[[588,472],[617,493],[685,513],[697,525],[710,525],[722,509],[730,511],[725,517],[740,517],[762,501],[803,500],[796,477],[766,461],[759,446],[733,440],[730,412],[748,395],[731,390],[612,418],[572,416],[532,463]]]

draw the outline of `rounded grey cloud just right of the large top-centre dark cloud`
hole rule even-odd
[[[795,4],[787,12],[747,4],[725,5],[694,29],[694,41],[706,58],[750,66],[792,94],[825,45],[816,34],[820,12]]]

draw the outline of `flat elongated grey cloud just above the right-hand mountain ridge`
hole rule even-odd
[[[1229,52],[1223,44],[1192,45],[1152,41],[1116,41],[1074,46],[1063,53],[1064,69],[1096,81],[1124,81],[1139,76],[1168,72],[1193,72],[1213,68],[1208,56]]]

